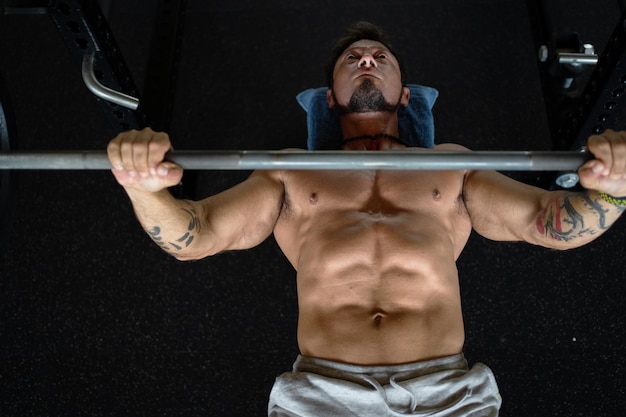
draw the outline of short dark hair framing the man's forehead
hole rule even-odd
[[[344,53],[344,51],[348,48],[348,46],[352,45],[356,41],[360,41],[362,39],[368,39],[371,41],[380,42],[389,52],[396,57],[398,64],[400,65],[400,76],[402,84],[405,84],[405,70],[402,60],[398,56],[397,51],[391,45],[390,39],[387,37],[387,34],[379,27],[373,23],[360,21],[355,22],[346,28],[344,34],[337,39],[335,42],[335,46],[331,53],[331,59],[328,65],[326,65],[326,82],[328,83],[328,88],[333,87],[333,71],[335,69],[335,64],[337,63],[337,59]]]

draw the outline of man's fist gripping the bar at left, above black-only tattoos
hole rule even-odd
[[[178,184],[183,170],[164,160],[169,136],[150,128],[117,135],[107,146],[113,176],[124,188],[156,192]]]

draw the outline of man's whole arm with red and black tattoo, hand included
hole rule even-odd
[[[594,159],[578,171],[582,192],[545,191],[493,172],[470,172],[464,197],[472,226],[493,240],[554,249],[582,246],[626,209],[626,132],[591,136]]]

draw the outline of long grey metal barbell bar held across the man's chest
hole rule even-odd
[[[173,151],[188,170],[575,171],[590,155],[548,151]],[[105,151],[0,152],[0,170],[106,170]]]

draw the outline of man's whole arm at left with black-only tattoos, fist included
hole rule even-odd
[[[180,200],[167,190],[182,178],[180,167],[163,160],[169,150],[169,137],[151,129],[121,133],[107,148],[113,175],[163,250],[180,260],[200,259],[256,246],[272,233],[284,194],[278,173],[253,173],[215,196]]]

